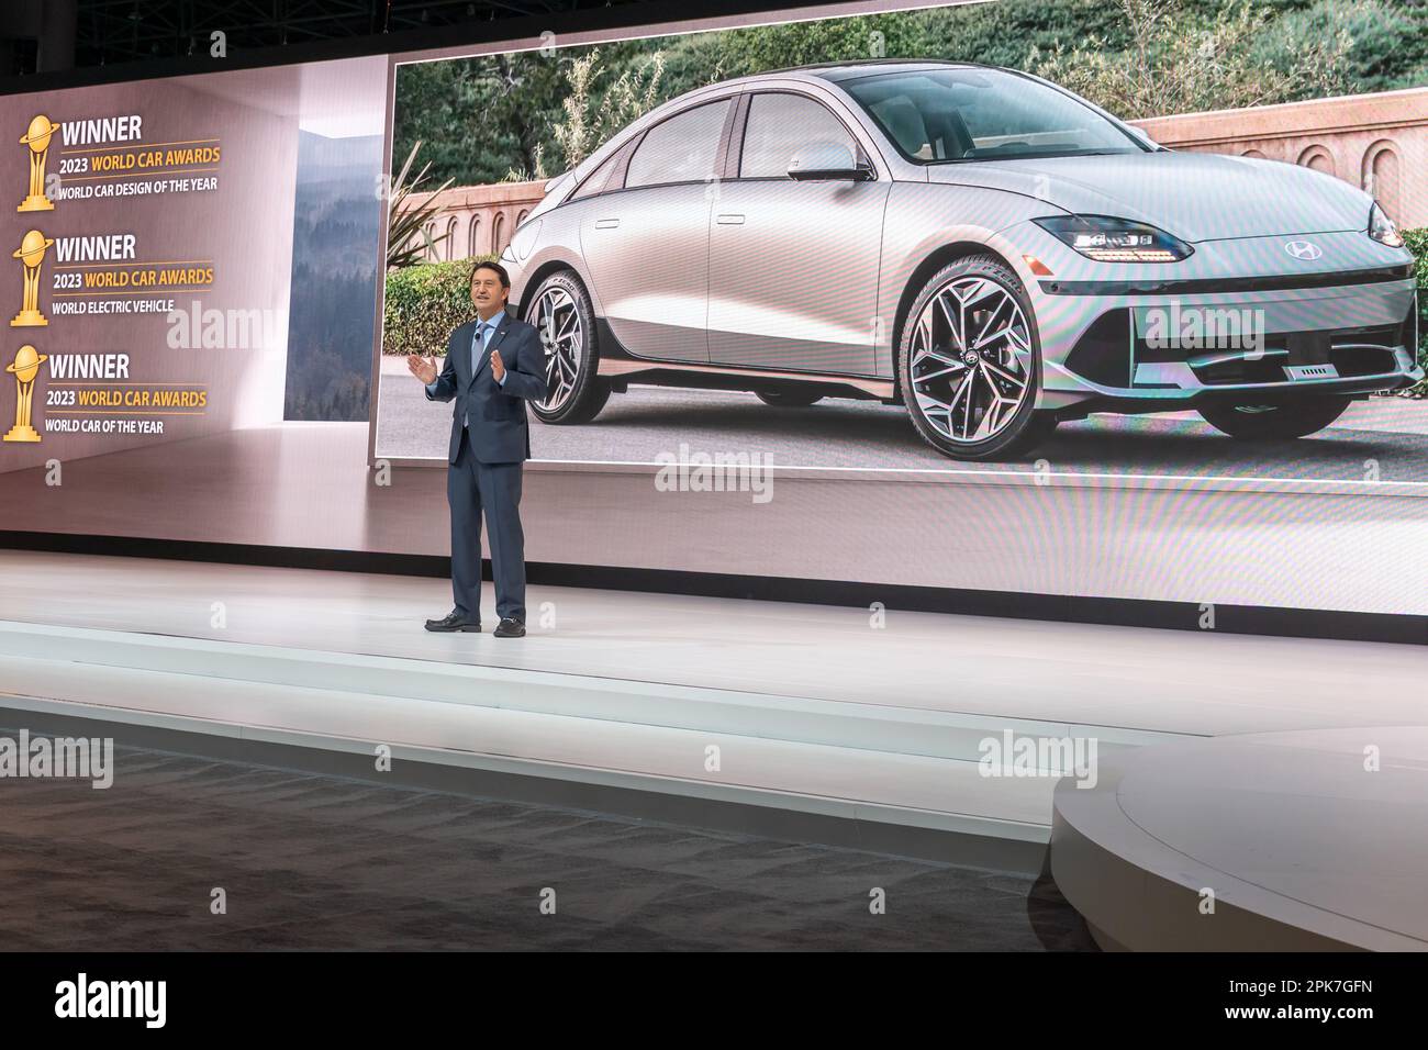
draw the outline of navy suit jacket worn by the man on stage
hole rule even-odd
[[[545,350],[540,333],[510,313],[501,313],[491,333],[486,353],[480,354],[471,373],[471,336],[476,321],[467,321],[451,333],[447,360],[436,380],[436,393],[427,391],[428,401],[456,401],[451,411],[450,461],[456,463],[461,450],[461,427],[471,420],[471,451],[481,463],[520,463],[530,459],[530,426],[526,421],[526,401],[543,401],[545,387]],[[491,351],[501,356],[506,383],[491,374]]]

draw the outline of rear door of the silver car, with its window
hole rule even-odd
[[[580,247],[600,310],[637,357],[708,361],[711,186],[731,97],[650,127],[605,191],[581,204]]]

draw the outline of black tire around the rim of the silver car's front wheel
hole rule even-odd
[[[1024,363],[1025,381],[1022,386],[1025,387],[1025,393],[1012,410],[1011,417],[1000,421],[995,433],[991,433],[985,439],[962,440],[944,433],[924,413],[917,390],[914,389],[912,354],[914,339],[917,337],[917,319],[921,317],[924,307],[952,281],[971,277],[981,277],[985,281],[991,281],[1017,303],[1024,319],[1028,360]],[[912,306],[902,323],[902,331],[898,336],[897,373],[912,427],[924,441],[950,459],[971,461],[1017,459],[1045,440],[1057,427],[1054,414],[1037,410],[1037,396],[1041,391],[1041,336],[1037,331],[1037,319],[1031,309],[1031,300],[1027,299],[1025,289],[1021,287],[1021,280],[1017,274],[992,256],[967,256],[958,259],[944,266],[922,284],[917,299],[912,300]],[[982,371],[982,374],[987,376],[988,373]],[[988,384],[991,381],[991,379],[987,380]],[[982,416],[990,411],[988,409]],[[945,414],[947,429],[954,430],[955,424],[951,413]]]

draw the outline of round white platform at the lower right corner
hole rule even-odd
[[[1428,950],[1428,726],[1122,753],[1055,810],[1052,874],[1105,947]]]

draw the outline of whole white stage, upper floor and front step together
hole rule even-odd
[[[1419,646],[533,587],[521,640],[428,634],[447,581],[0,551],[0,706],[1010,839],[1101,754],[1422,720]],[[490,603],[490,590],[487,590]],[[494,626],[490,609],[488,627]],[[720,760],[711,767],[710,747]]]

